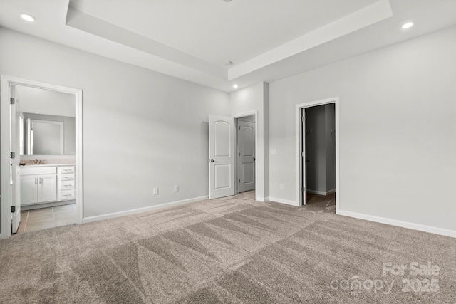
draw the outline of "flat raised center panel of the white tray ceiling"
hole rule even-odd
[[[378,0],[71,0],[90,16],[224,67],[244,63]]]

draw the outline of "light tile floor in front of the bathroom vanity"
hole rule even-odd
[[[21,211],[18,234],[76,223],[76,204]]]

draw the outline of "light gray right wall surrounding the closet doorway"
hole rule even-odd
[[[456,230],[455,37],[446,28],[270,83],[270,195],[297,201],[296,104],[338,96],[340,209]]]

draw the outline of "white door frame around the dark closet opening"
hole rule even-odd
[[[336,214],[339,214],[339,206],[340,206],[340,196],[341,192],[339,191],[339,98],[328,98],[323,100],[316,100],[311,101],[309,103],[301,103],[296,105],[296,164],[298,164],[299,169],[296,170],[296,206],[302,205],[302,191],[301,187],[303,187],[303,163],[302,163],[302,151],[301,147],[302,142],[302,128],[301,128],[301,110],[304,108],[315,107],[316,105],[328,105],[330,103],[334,103],[335,105],[335,112],[336,112]]]

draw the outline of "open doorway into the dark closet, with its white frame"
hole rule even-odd
[[[298,204],[338,213],[338,98],[296,105],[296,128]]]

